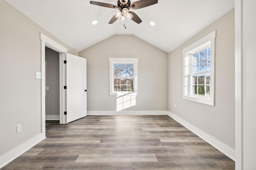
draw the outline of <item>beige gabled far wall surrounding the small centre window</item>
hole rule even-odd
[[[109,96],[108,58],[138,58],[136,106],[126,111],[166,111],[167,53],[133,35],[114,35],[79,53],[87,59],[88,111],[115,111],[116,96]]]

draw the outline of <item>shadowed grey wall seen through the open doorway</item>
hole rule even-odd
[[[45,114],[60,115],[60,63],[59,53],[45,48],[46,65],[46,86],[49,90],[45,96]]]

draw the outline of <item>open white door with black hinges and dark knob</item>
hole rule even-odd
[[[86,59],[67,54],[66,82],[66,122],[69,123],[87,115]]]

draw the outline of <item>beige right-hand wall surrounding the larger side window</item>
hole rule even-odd
[[[182,99],[182,49],[216,30],[215,106]],[[234,10],[168,54],[168,110],[235,149]],[[176,108],[174,107],[176,104]]]

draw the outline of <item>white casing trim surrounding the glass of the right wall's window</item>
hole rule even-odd
[[[190,100],[190,101],[194,101],[194,102],[199,102],[202,104],[208,104],[211,106],[214,106],[215,101],[215,83],[214,83],[214,69],[215,69],[215,38],[216,38],[216,31],[212,31],[211,33],[209,33],[208,35],[204,36],[203,38],[199,39],[198,41],[192,43],[191,45],[189,45],[188,47],[184,48],[182,50],[183,53],[183,78],[182,78],[182,98],[185,100]],[[190,75],[188,77],[188,83],[187,83],[187,88],[190,90],[186,90],[188,91],[188,95],[185,94],[185,58],[190,55],[190,53],[192,53],[195,50],[201,49],[202,47],[206,46],[208,43],[210,42],[210,48],[211,48],[211,69],[210,69],[210,96],[209,97],[205,97],[205,96],[193,96],[190,95]],[[203,72],[202,72],[203,73]],[[200,74],[200,72],[198,73]]]

